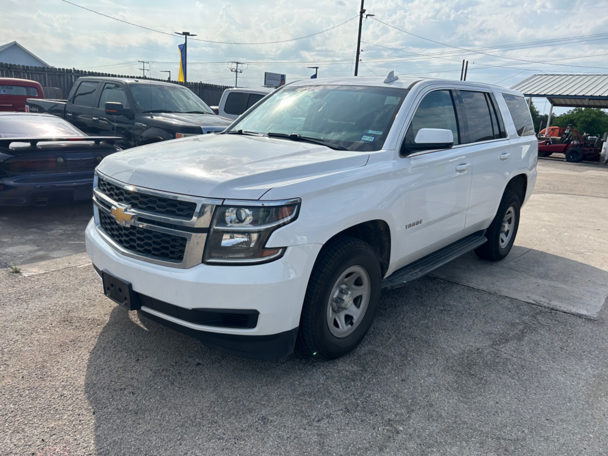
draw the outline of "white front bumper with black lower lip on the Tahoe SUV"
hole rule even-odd
[[[269,356],[264,354],[271,352],[269,346],[273,344],[289,345],[277,348],[276,353],[282,356],[293,349],[308,278],[321,247],[321,244],[288,247],[282,258],[252,266],[198,264],[179,269],[121,255],[103,240],[93,219],[86,228],[86,250],[93,264],[100,271],[131,283],[136,292],[185,309],[259,312],[257,326],[250,329],[198,325],[142,306],[146,316],[196,336],[210,347],[266,359]],[[238,349],[257,342],[259,350]]]

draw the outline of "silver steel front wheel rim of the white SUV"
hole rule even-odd
[[[336,337],[357,329],[370,302],[370,276],[362,266],[345,269],[331,289],[327,303],[327,326]]]

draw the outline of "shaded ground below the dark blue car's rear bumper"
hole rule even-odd
[[[0,266],[30,264],[85,252],[91,201],[46,207],[0,206]]]

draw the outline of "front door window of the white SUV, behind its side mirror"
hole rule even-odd
[[[460,144],[454,100],[449,90],[437,90],[424,95],[407,129],[406,140],[413,143],[421,128],[452,130],[454,144]]]

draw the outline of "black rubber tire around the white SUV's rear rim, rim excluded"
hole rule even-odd
[[[489,261],[500,261],[506,257],[513,247],[515,237],[517,236],[517,229],[519,228],[519,209],[520,209],[519,198],[516,193],[507,191],[502,196],[500,206],[496,212],[494,220],[486,230],[486,238],[488,242],[475,249],[475,255],[479,258]],[[505,220],[505,216],[508,211],[511,210],[514,216],[513,226],[510,229],[510,237],[508,242],[501,246],[502,224]]]

